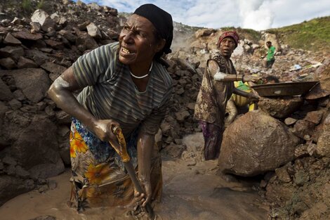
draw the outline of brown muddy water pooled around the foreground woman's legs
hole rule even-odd
[[[226,182],[218,176],[217,162],[200,160],[201,134],[187,136],[187,152],[181,160],[164,158],[163,200],[154,208],[158,219],[217,219],[263,220],[268,219],[268,207],[263,205],[251,181]],[[88,209],[78,214],[67,207],[70,195],[70,172],[54,179],[54,190],[39,193],[37,190],[19,195],[0,207],[0,219],[27,220],[41,215],[55,216],[59,220],[121,220],[133,219],[125,210]]]

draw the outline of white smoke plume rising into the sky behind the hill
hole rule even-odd
[[[266,30],[272,27],[274,13],[268,0],[238,0],[239,18],[243,28]]]

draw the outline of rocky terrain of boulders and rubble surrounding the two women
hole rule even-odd
[[[124,20],[115,8],[97,4],[43,1],[34,11],[39,1],[30,2],[25,8],[0,3],[0,205],[56,187],[47,178],[70,167],[70,116],[46,91],[79,56],[117,41]],[[157,143],[166,157],[201,160],[200,149],[188,151],[183,138],[201,131],[194,103],[222,30],[175,30],[175,50],[166,57],[173,103]],[[269,219],[329,219],[330,57],[291,48],[267,31],[257,40],[237,31],[241,41],[232,60],[238,72],[320,84],[303,97],[261,98],[260,110],[240,115],[225,131],[219,174],[258,179],[255,190],[270,206]],[[271,70],[261,58],[268,40],[277,48]]]

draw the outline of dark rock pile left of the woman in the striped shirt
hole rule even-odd
[[[119,36],[114,8],[47,3],[51,14],[38,9],[0,22],[0,204],[42,190],[70,165],[70,116],[46,91],[79,56]]]

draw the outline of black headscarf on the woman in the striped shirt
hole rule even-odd
[[[173,20],[172,16],[163,9],[154,4],[144,4],[134,11],[134,14],[140,15],[152,22],[154,28],[160,34],[161,38],[166,40],[163,50],[156,53],[155,57],[160,58],[163,53],[171,53],[171,44],[173,39]]]

